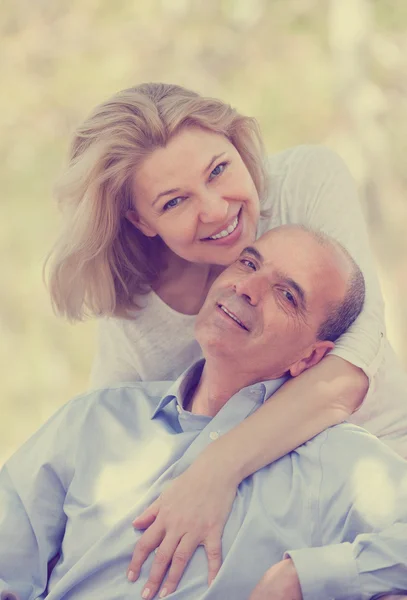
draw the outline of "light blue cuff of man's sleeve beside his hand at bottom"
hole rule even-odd
[[[288,550],[284,558],[291,558],[294,563],[303,600],[362,597],[351,544]]]

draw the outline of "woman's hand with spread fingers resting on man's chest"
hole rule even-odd
[[[208,557],[208,585],[222,564],[222,533],[236,496],[239,481],[219,463],[199,458],[177,477],[135,521],[146,529],[137,542],[127,576],[136,581],[148,556],[156,550],[142,598],[172,593],[198,546]]]

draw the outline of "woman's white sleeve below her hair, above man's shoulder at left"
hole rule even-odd
[[[122,321],[99,319],[89,389],[105,388],[124,381],[141,381],[135,361],[136,350],[131,347]]]

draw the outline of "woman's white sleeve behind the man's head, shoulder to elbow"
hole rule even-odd
[[[332,354],[361,368],[372,384],[383,359],[384,303],[355,182],[343,160],[321,146],[298,148],[288,180],[295,219],[340,242],[363,272],[363,311]]]

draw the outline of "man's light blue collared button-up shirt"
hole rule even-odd
[[[131,522],[217,436],[282,383],[241,390],[214,417],[183,409],[197,363],[175,384],[123,384],[59,410],[0,474],[0,592],[49,600],[140,597],[126,570]],[[253,439],[253,444],[256,439]],[[407,462],[352,425],[316,436],[239,486],[210,588],[199,547],[170,598],[247,600],[285,552],[304,600],[407,590]]]

